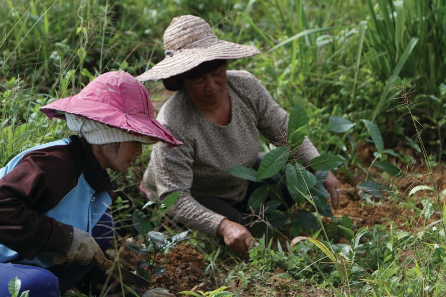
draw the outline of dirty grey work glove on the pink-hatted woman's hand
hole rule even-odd
[[[66,254],[58,254],[54,258],[55,264],[76,262],[79,265],[88,265],[96,253],[102,253],[98,243],[90,233],[73,228],[73,241]]]

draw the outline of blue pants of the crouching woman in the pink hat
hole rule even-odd
[[[91,230],[92,236],[99,247],[105,252],[113,241],[113,221],[110,212],[107,211],[99,222]],[[75,263],[55,265],[47,269],[24,264],[0,263],[0,297],[11,296],[8,292],[8,283],[14,277],[21,281],[20,293],[29,290],[29,297],[58,297],[71,287],[76,286],[82,280],[94,286],[94,281],[102,279],[104,273],[98,271],[101,276],[93,276],[95,265],[86,266]],[[96,269],[98,270],[98,269]],[[98,274],[96,273],[96,274]],[[89,277],[86,277],[89,275]],[[89,290],[90,288],[88,288]]]

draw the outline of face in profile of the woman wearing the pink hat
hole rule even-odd
[[[142,144],[138,141],[121,142],[116,151],[111,144],[98,145],[96,155],[103,169],[110,168],[113,171],[124,172],[133,165],[142,153]]]

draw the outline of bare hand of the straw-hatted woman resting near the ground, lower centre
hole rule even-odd
[[[246,252],[251,244],[252,235],[242,225],[223,219],[217,228],[217,235],[223,236],[224,244],[237,253]]]

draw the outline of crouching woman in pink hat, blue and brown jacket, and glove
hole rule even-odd
[[[127,170],[142,144],[181,143],[154,119],[147,89],[123,71],[40,110],[79,136],[27,149],[0,169],[0,296],[14,277],[30,296],[76,285],[99,294],[106,275],[92,260],[113,240],[106,169]]]

